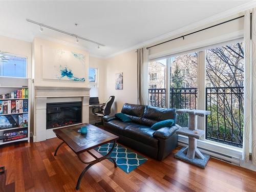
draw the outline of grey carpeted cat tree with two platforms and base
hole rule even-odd
[[[188,114],[188,127],[181,127],[176,131],[177,134],[188,136],[188,146],[183,147],[175,157],[201,168],[205,168],[210,156],[202,154],[197,148],[197,139],[200,139],[205,132],[197,129],[197,116],[203,117],[209,115],[210,111],[204,110],[176,110],[177,114]]]

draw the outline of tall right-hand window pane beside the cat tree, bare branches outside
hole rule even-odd
[[[206,110],[211,111],[206,139],[238,147],[243,144],[243,50],[243,42],[205,50]]]

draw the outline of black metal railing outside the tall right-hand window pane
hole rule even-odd
[[[244,88],[206,88],[205,138],[237,147],[243,146]]]

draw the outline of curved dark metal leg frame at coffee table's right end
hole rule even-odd
[[[80,174],[80,176],[79,176],[79,178],[78,178],[78,180],[77,180],[77,183],[76,183],[76,190],[79,189],[79,186],[80,186],[81,179],[82,179],[83,175],[87,172],[87,170],[88,170],[91,166],[95,165],[96,163],[99,163],[100,161],[102,161],[102,160],[104,160],[104,159],[111,159],[111,160],[113,161],[113,163],[114,163],[114,166],[117,167],[117,164],[116,164],[115,159],[112,158],[112,157],[108,157],[108,156],[111,154],[111,152],[114,150],[115,145],[116,145],[116,141],[114,141],[113,146],[112,146],[111,150],[109,151],[109,153],[107,153],[105,156],[102,156],[102,157],[100,157],[100,158],[97,158],[97,159],[95,159],[94,161],[91,161],[91,162],[84,162],[84,161],[80,158],[79,154],[77,155],[78,159],[79,159],[82,163],[88,164],[88,166],[87,166],[86,168],[84,168],[83,171],[82,171],[82,173]],[[89,153],[89,154],[90,154],[90,153]],[[95,157],[95,156],[94,156],[94,157]]]

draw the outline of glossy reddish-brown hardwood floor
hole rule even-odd
[[[76,191],[86,165],[67,145],[54,157],[59,143],[54,138],[1,147],[0,165],[6,172],[0,175],[0,191]],[[83,158],[92,159],[90,155]],[[79,191],[256,191],[256,173],[213,158],[201,169],[171,154],[162,162],[149,158],[126,174],[104,160],[84,175]]]

